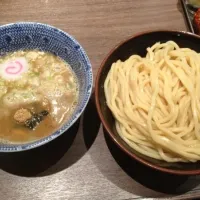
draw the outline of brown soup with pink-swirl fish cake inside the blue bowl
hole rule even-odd
[[[0,57],[0,142],[52,134],[72,115],[78,88],[70,65],[52,53],[21,50]]]

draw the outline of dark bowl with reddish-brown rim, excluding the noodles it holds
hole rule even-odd
[[[118,59],[124,61],[132,54],[145,56],[147,47],[151,47],[156,42],[167,42],[169,40],[176,42],[180,47],[188,47],[200,52],[200,37],[187,32],[161,30],[132,36],[112,49],[102,62],[95,83],[96,106],[106,132],[113,141],[133,159],[158,171],[176,175],[197,175],[200,174],[200,162],[168,163],[144,156],[129,147],[118,135],[114,125],[113,115],[106,104],[104,81],[112,63],[116,62]]]

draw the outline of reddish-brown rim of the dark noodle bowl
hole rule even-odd
[[[167,32],[167,33],[175,33],[175,34],[184,34],[184,35],[195,37],[195,38],[200,40],[200,36],[199,35],[196,35],[194,33],[187,32],[187,31],[155,29],[155,30],[151,30],[151,31],[143,31],[143,32],[136,33],[136,34],[134,34],[134,35],[122,40],[121,42],[119,42],[117,45],[115,45],[107,53],[106,57],[101,62],[101,65],[100,65],[100,67],[98,69],[98,72],[97,72],[97,75],[96,75],[96,81],[95,81],[95,103],[96,103],[96,107],[97,107],[97,112],[99,114],[99,117],[101,119],[101,122],[102,122],[104,128],[106,129],[106,132],[109,134],[111,139],[114,141],[114,143],[122,151],[124,151],[126,154],[128,154],[131,158],[135,159],[136,161],[138,161],[138,162],[140,162],[140,163],[146,165],[147,167],[150,167],[150,168],[152,168],[152,169],[154,169],[156,171],[161,171],[161,172],[165,172],[165,173],[168,173],[168,174],[174,174],[174,175],[199,175],[200,174],[200,169],[195,169],[195,170],[167,169],[167,168],[164,168],[164,167],[157,166],[157,165],[155,165],[153,163],[150,163],[150,162],[138,157],[136,154],[130,152],[124,145],[122,145],[120,142],[117,141],[117,138],[116,138],[115,134],[109,128],[109,125],[108,125],[107,121],[104,119],[103,114],[101,112],[100,103],[99,103],[99,88],[100,88],[99,87],[99,83],[100,83],[100,77],[101,77],[101,74],[102,74],[102,70],[103,70],[104,65],[105,65],[106,61],[108,60],[108,58],[113,54],[113,52],[116,49],[120,48],[123,44],[125,44],[129,40],[132,40],[132,39],[137,38],[137,37],[142,36],[142,35],[156,33],[156,32]]]

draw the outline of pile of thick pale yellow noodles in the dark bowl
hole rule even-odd
[[[142,58],[112,64],[104,83],[121,138],[167,162],[200,160],[200,54],[156,43]]]

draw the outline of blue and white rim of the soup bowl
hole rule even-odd
[[[91,97],[92,94],[92,89],[93,89],[93,84],[94,84],[94,80],[93,80],[93,70],[92,70],[92,65],[91,62],[89,60],[89,57],[86,53],[86,51],[84,50],[84,48],[82,47],[82,45],[69,33],[61,30],[60,28],[57,28],[55,26],[49,25],[49,24],[45,24],[45,23],[40,23],[40,22],[31,22],[31,21],[20,21],[20,22],[14,22],[14,23],[8,23],[8,24],[3,24],[0,25],[0,28],[9,28],[12,26],[36,26],[39,25],[41,27],[47,28],[47,29],[51,29],[51,30],[56,30],[59,33],[62,33],[63,35],[65,35],[66,37],[68,37],[75,45],[78,45],[81,51],[81,54],[88,66],[88,87],[87,87],[87,91],[85,92],[85,97],[82,101],[82,107],[81,109],[77,110],[75,112],[75,117],[72,118],[70,120],[70,123],[67,125],[68,121],[66,121],[60,128],[56,129],[55,131],[53,131],[50,135],[44,137],[44,138],[40,138],[36,141],[33,142],[28,142],[28,143],[20,143],[20,144],[13,144],[13,146],[7,146],[7,144],[4,144],[5,146],[0,146],[0,153],[14,153],[14,152],[22,152],[22,151],[28,151],[31,149],[35,149],[37,147],[40,147],[42,145],[45,145],[51,141],[53,141],[54,139],[56,139],[57,137],[59,137],[60,135],[62,135],[63,133],[65,133],[70,127],[72,127],[74,125],[74,123],[79,119],[79,117],[82,115],[82,113],[84,112],[89,99]],[[66,126],[66,127],[65,127]],[[64,127],[64,128],[63,128]],[[58,133],[59,132],[59,133]],[[8,144],[10,145],[10,144]],[[22,148],[23,147],[23,148]]]

